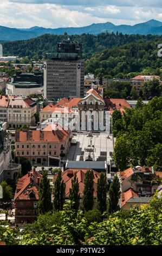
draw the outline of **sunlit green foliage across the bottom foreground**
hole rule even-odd
[[[59,224],[56,216],[51,215],[55,220],[50,220],[50,214],[46,214],[38,218],[39,224],[35,222],[21,233],[15,228],[4,232],[0,226],[0,239],[6,245],[161,245],[161,203],[162,198],[155,194],[151,203],[140,209],[105,212],[100,223],[88,223],[81,210],[72,210],[69,201],[63,211],[57,212]]]

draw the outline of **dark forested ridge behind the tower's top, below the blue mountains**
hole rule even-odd
[[[119,47],[139,39],[143,41],[160,39],[159,35],[123,35],[122,33],[101,33],[98,35],[82,34],[82,35],[50,35],[44,34],[37,38],[21,41],[4,42],[4,56],[20,56],[42,59],[47,52],[56,52],[57,42],[70,38],[72,41],[79,41],[83,44],[83,58],[88,59],[107,48]]]

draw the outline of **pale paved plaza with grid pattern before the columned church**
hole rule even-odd
[[[113,154],[113,137],[108,133],[92,133],[93,137],[87,137],[88,132],[73,133],[73,141],[76,144],[72,144],[70,150],[66,156],[66,160],[73,161],[85,161],[88,155],[92,157],[94,161],[109,162]],[[109,136],[109,138],[107,138]],[[90,142],[92,140],[92,142]],[[94,153],[87,152],[85,149],[90,146],[94,148]]]

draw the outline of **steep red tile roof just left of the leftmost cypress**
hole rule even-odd
[[[39,190],[39,185],[37,184],[37,178],[40,178],[40,181],[42,179],[42,175],[35,170],[31,170],[30,173],[31,175],[24,175],[22,178],[18,179],[17,186],[16,186],[16,194],[14,198],[15,200],[38,200],[38,190]],[[32,179],[30,179],[30,177]],[[30,198],[29,194],[33,192],[35,195],[34,198]]]

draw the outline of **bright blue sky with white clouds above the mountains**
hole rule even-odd
[[[161,0],[0,0],[0,26],[83,27],[162,22]]]

